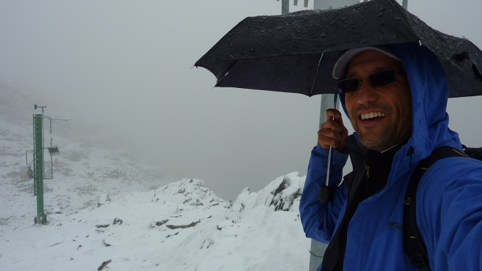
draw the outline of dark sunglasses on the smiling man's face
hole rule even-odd
[[[337,82],[336,89],[339,93],[346,94],[348,92],[357,91],[362,87],[363,79],[368,79],[368,82],[372,87],[381,87],[384,85],[391,84],[397,80],[399,74],[405,74],[404,72],[397,72],[395,69],[386,69],[384,71],[375,72],[370,74],[366,78],[348,78],[344,80],[339,80]]]

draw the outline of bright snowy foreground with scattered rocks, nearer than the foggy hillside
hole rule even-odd
[[[3,232],[0,270],[97,270],[104,261],[105,270],[307,270],[303,184],[291,173],[245,189],[232,206],[192,179],[103,195],[98,207],[50,215],[48,226],[29,218]]]

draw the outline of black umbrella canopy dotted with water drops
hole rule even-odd
[[[395,0],[248,17],[195,65],[216,76],[216,87],[313,96],[336,93],[332,71],[343,50],[395,43],[419,43],[434,52],[446,71],[450,97],[482,95],[481,50],[430,28]]]

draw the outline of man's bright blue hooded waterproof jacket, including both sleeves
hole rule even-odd
[[[344,270],[418,270],[404,252],[401,230],[408,180],[437,147],[462,149],[458,134],[448,128],[448,81],[437,57],[419,45],[387,47],[401,59],[410,82],[412,136],[395,154],[388,184],[360,203],[350,220]],[[340,100],[344,107],[344,96]],[[334,151],[330,186],[336,187],[335,200],[328,204],[326,221],[318,191],[326,182],[327,158],[328,150],[318,144],[300,202],[306,237],[322,243],[331,241],[342,221],[348,194],[343,183],[338,186],[348,155]],[[446,158],[430,166],[417,190],[417,224],[432,271],[482,270],[482,162]]]

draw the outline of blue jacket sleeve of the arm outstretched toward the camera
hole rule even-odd
[[[446,158],[432,167],[417,191],[430,268],[482,270],[482,162]]]

